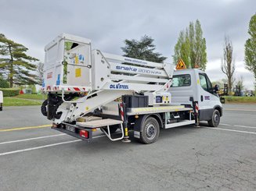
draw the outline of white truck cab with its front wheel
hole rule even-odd
[[[200,69],[181,69],[174,72],[170,88],[172,104],[191,105],[191,100],[196,101],[199,120],[207,121],[210,126],[217,126],[222,116],[222,103],[216,91],[207,74]]]

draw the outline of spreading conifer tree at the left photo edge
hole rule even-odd
[[[27,50],[22,44],[0,34],[0,73],[9,80],[10,87],[13,87],[13,84],[38,83],[37,76],[31,73],[37,69],[37,65],[31,62],[38,59],[26,55]]]

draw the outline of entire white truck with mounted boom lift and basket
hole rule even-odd
[[[156,63],[91,50],[91,41],[61,34],[45,46],[41,112],[52,129],[92,140],[101,129],[112,140],[157,140],[160,129],[222,116],[217,88],[200,69],[175,70]],[[121,129],[121,133],[115,133]]]

